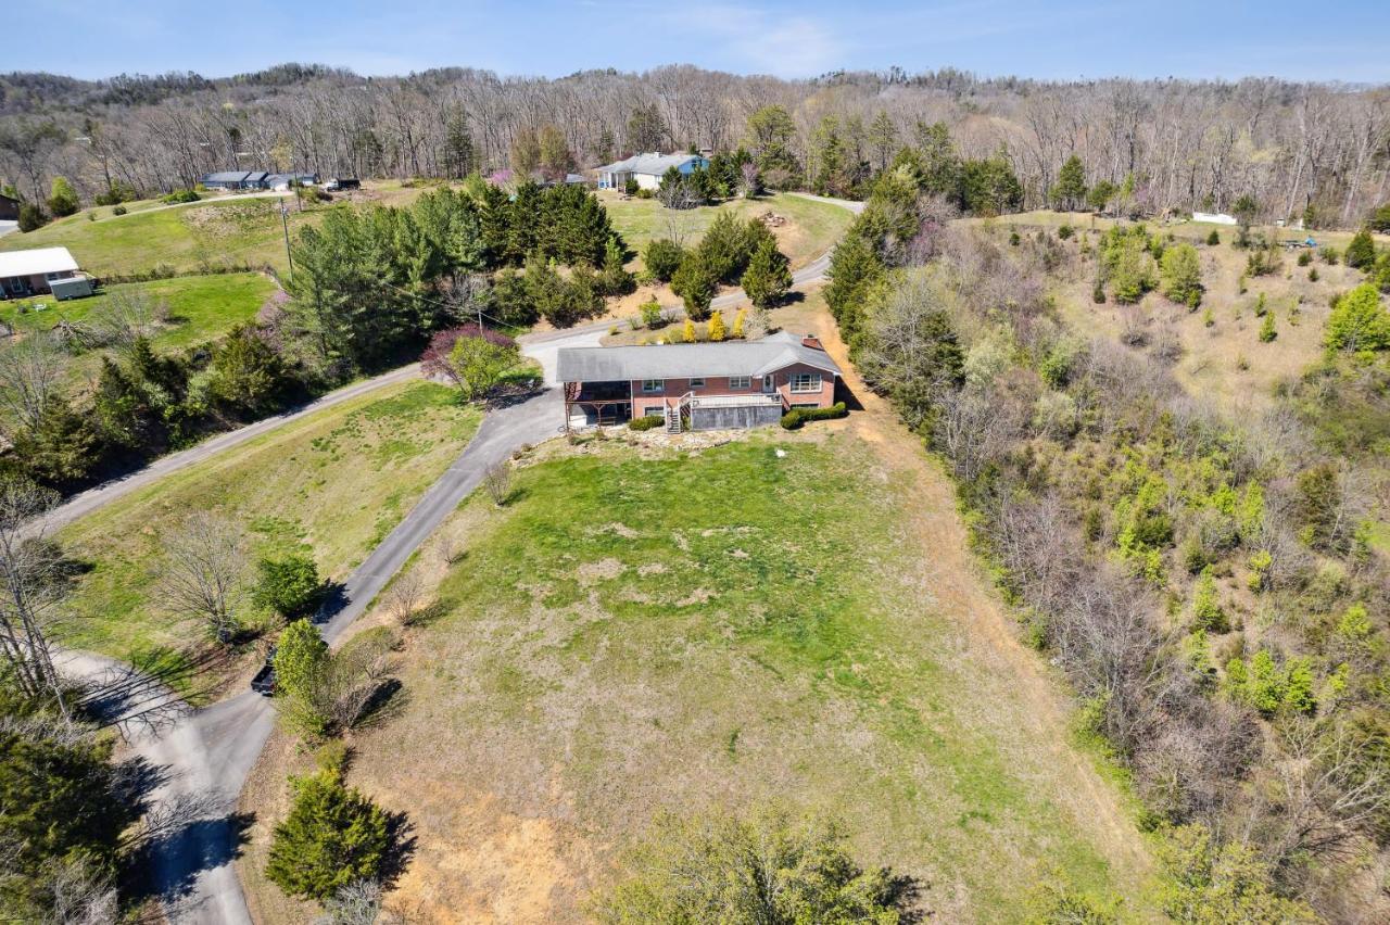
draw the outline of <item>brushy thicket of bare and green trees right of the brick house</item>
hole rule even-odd
[[[1068,672],[1143,825],[1202,867],[1165,911],[1383,912],[1366,879],[1390,849],[1382,256],[1333,299],[1323,358],[1237,421],[1184,393],[1162,332],[1095,338],[1049,307],[1059,274],[1094,272],[1122,308],[1158,289],[1195,311],[1191,244],[991,233],[944,224],[952,210],[880,183],[827,299],[866,381],[954,474],[1020,632]],[[1222,857],[1244,892],[1213,876]]]

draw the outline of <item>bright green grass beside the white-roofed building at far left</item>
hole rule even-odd
[[[0,303],[0,321],[18,331],[40,331],[60,321],[78,322],[101,304],[111,293],[142,289],[170,307],[170,321],[153,339],[157,347],[179,349],[211,340],[238,322],[250,321],[275,292],[274,281],[260,274],[211,274],[206,276],[175,276],[147,283],[107,286],[90,299],[54,301],[51,297],[33,299],[42,311],[18,312],[18,303]]]

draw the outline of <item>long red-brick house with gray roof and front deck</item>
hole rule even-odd
[[[559,350],[566,428],[659,415],[669,431],[776,424],[791,408],[828,408],[840,367],[816,338]]]

